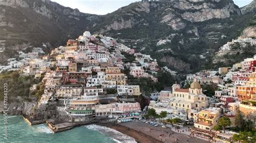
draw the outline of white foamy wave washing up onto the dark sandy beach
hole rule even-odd
[[[114,130],[112,128],[109,128],[109,127],[99,126],[99,125],[95,125],[95,124],[87,125],[85,127],[89,128],[91,130],[95,130],[100,133],[106,134],[116,142],[126,142],[126,143],[136,143],[137,142],[134,138],[132,138],[126,134],[123,134],[117,130]]]

